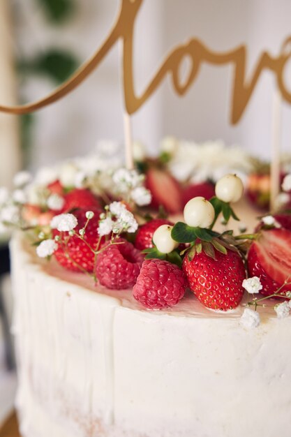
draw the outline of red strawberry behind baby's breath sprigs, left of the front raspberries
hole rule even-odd
[[[98,220],[100,216],[100,210],[92,209],[94,212],[94,217],[89,221],[86,232],[84,235],[84,240],[93,249],[96,249],[98,244]],[[77,227],[75,231],[78,232],[81,228],[84,228],[87,222],[86,218],[87,209],[77,209],[74,215],[77,217]],[[68,238],[68,232],[59,232],[58,230],[53,230],[54,237],[59,235],[61,240],[58,242],[58,249],[54,252],[59,264],[68,270],[73,270],[74,272],[80,272],[81,270],[86,270],[86,272],[93,272],[94,270],[94,253],[89,249],[89,246],[83,242],[77,235]]]

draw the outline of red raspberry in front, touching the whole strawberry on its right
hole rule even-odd
[[[187,286],[184,272],[171,262],[145,260],[133,287],[133,297],[149,309],[176,305]]]

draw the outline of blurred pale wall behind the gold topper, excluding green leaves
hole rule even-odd
[[[40,50],[48,43],[66,45],[84,60],[107,35],[118,0],[78,0],[74,20],[59,31],[47,29],[33,0],[17,0],[20,50]],[[144,0],[135,31],[135,77],[142,89],[171,47],[191,36],[213,50],[246,43],[248,72],[262,50],[277,54],[291,34],[290,0]],[[291,63],[290,63],[291,64]],[[289,68],[291,74],[291,66]],[[197,141],[223,139],[269,157],[271,97],[274,78],[263,73],[243,118],[230,126],[230,66],[204,65],[183,98],[165,82],[144,108],[133,116],[135,138],[156,150],[163,135]],[[289,80],[291,88],[291,80]],[[52,84],[32,78],[24,94],[35,100]],[[37,114],[33,166],[88,151],[102,138],[122,142],[122,91],[119,50],[115,47],[98,70],[73,94]],[[283,108],[283,147],[291,151],[291,107]]]

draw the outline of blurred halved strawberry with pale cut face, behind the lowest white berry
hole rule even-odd
[[[177,214],[182,209],[181,187],[170,173],[158,168],[149,168],[146,173],[146,186],[151,191],[151,206],[162,205],[167,212]]]

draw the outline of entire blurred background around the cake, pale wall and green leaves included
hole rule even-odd
[[[100,45],[117,15],[119,0],[1,0],[0,103],[27,103],[64,82]],[[248,75],[262,50],[281,51],[291,35],[289,0],[144,0],[135,26],[135,86],[144,89],[165,54],[191,36],[212,50],[248,46]],[[0,186],[10,186],[20,168],[87,153],[98,140],[122,145],[123,92],[119,47],[64,100],[35,114],[0,114]],[[291,65],[285,80],[291,89]],[[224,140],[270,157],[274,76],[264,72],[236,126],[230,125],[231,66],[201,68],[195,84],[179,98],[166,80],[133,115],[133,136],[151,154],[164,135]],[[291,106],[283,103],[282,148],[290,151]],[[5,243],[5,242],[4,242]],[[2,301],[10,317],[6,244],[0,265]],[[2,302],[2,306],[3,306]],[[3,326],[3,323],[2,323]],[[1,346],[2,345],[2,346]],[[8,373],[0,335],[0,421],[12,405],[15,376]]]

